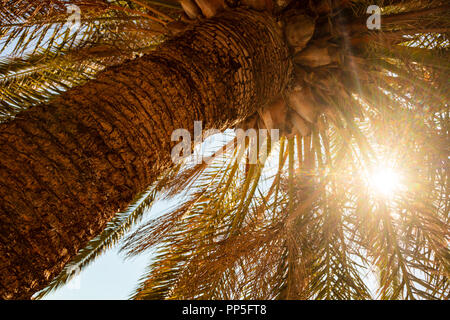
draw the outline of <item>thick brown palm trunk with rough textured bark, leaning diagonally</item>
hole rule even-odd
[[[171,133],[223,128],[291,74],[275,21],[224,12],[0,124],[0,297],[28,299],[171,165]]]

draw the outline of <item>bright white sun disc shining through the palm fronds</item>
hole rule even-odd
[[[395,169],[380,166],[370,174],[369,183],[377,193],[392,196],[401,187],[401,177]]]

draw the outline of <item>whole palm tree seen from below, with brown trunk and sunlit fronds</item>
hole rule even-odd
[[[1,296],[189,190],[126,239],[156,250],[133,298],[367,299],[367,272],[379,298],[448,298],[449,6],[378,1],[372,30],[370,2],[3,0]],[[281,139],[174,165],[196,120]]]

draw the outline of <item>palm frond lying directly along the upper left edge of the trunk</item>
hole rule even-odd
[[[124,47],[106,42],[0,60],[0,121],[94,78],[107,66],[150,51],[157,43],[155,39],[141,47]]]

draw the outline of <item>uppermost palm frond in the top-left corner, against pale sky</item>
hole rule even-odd
[[[110,34],[130,24],[146,24],[149,30],[153,24],[147,21],[146,16],[121,11],[120,9],[131,10],[126,4],[117,5],[108,1],[19,1],[19,3],[28,6],[23,10],[20,10],[20,6],[16,10],[11,10],[15,7],[11,4],[5,6],[6,12],[2,12],[3,21],[12,22],[0,25],[1,50],[9,48],[10,54],[15,56],[42,48],[47,52],[67,50],[103,36],[108,38]],[[33,3],[36,5],[33,6]],[[67,12],[69,4],[80,8],[80,25],[77,28],[70,28],[68,22],[70,14]],[[159,32],[161,31],[159,28]]]

